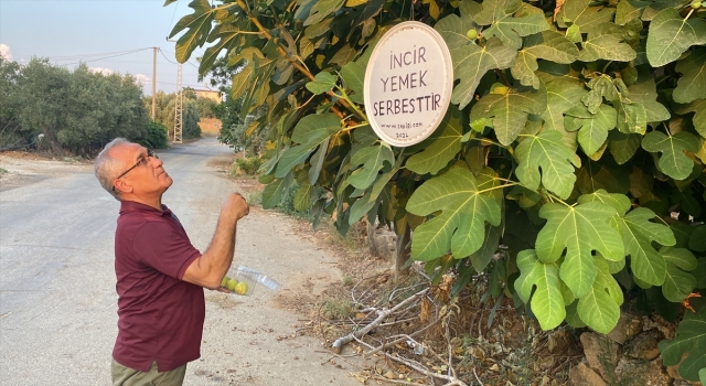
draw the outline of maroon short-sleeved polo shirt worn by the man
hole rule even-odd
[[[201,356],[203,288],[181,280],[201,253],[176,216],[162,208],[122,201],[115,233],[118,337],[113,357],[141,372],[154,361],[168,372]]]

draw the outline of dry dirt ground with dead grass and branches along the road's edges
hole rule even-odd
[[[223,178],[235,180],[253,202],[264,186],[253,176],[231,174],[235,157],[218,157],[210,167]],[[0,154],[0,192],[92,167],[87,160],[47,160],[6,152]],[[270,213],[256,205],[252,207],[254,212]],[[308,240],[335,257],[331,264],[340,277],[302,272],[301,280],[295,276],[291,283],[306,290],[280,291],[272,299],[276,307],[301,315],[295,335],[315,337],[324,352],[338,339],[378,319],[379,311],[428,290],[408,307],[388,314],[364,336],[344,344],[339,354],[330,352],[328,364],[344,368],[342,377],[365,385],[445,385],[450,379],[462,379],[467,385],[554,386],[566,384],[568,368],[580,361],[578,339],[573,332],[542,332],[535,322],[516,314],[510,299],[498,304],[482,301],[486,277],[478,277],[457,300],[450,301],[450,277],[430,288],[422,270],[413,269],[413,275],[395,282],[392,261],[370,255],[364,224],[342,237],[330,219],[322,219],[314,233],[306,219],[285,219],[279,213],[270,216],[275,222],[287,221],[292,237]],[[235,307],[222,296],[210,298],[214,304],[221,302],[218,308]],[[442,379],[443,376],[448,378]]]

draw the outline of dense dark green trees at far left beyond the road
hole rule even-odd
[[[105,76],[85,64],[69,72],[42,58],[25,66],[2,60],[0,83],[0,148],[93,154],[116,137],[147,140],[142,88],[130,75]]]

